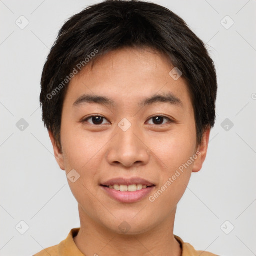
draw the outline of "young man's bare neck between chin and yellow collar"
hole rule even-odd
[[[176,209],[153,229],[139,234],[119,234],[91,219],[80,205],[80,230],[74,242],[84,255],[181,256],[182,249],[173,235]]]

